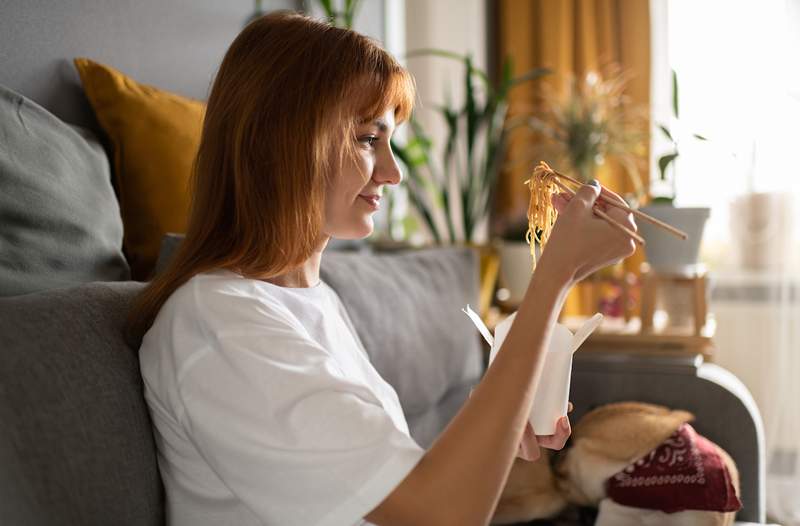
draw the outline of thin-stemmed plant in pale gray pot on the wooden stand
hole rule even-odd
[[[676,239],[646,222],[639,223],[639,230],[647,240],[645,253],[651,268],[663,273],[686,274],[697,265],[703,229],[710,210],[703,207],[675,206],[675,166],[680,156],[679,143],[688,139],[697,141],[706,141],[707,139],[696,133],[687,137],[678,132],[680,124],[678,119],[678,76],[673,71],[673,131],[670,131],[664,124],[658,125],[659,131],[670,142],[670,148],[658,158],[659,179],[652,185],[653,199],[650,205],[642,208],[642,211],[680,228],[689,235],[689,238],[687,240]]]

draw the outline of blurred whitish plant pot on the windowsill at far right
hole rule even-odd
[[[787,259],[791,245],[792,200],[783,193],[750,193],[730,207],[731,239],[740,267],[776,270]]]

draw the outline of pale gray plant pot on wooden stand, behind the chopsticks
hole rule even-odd
[[[703,228],[710,209],[649,205],[642,207],[642,212],[669,223],[689,235],[688,239],[679,239],[647,221],[637,221],[639,233],[647,242],[645,246],[647,262],[653,270],[685,274],[697,265]]]

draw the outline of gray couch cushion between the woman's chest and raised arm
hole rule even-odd
[[[321,274],[341,297],[375,368],[397,391],[411,435],[429,446],[482,373],[477,332],[461,312],[477,304],[477,253],[326,251]]]

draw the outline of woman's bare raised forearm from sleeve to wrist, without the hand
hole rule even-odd
[[[425,511],[427,520],[418,524],[487,524],[491,519],[525,430],[547,342],[570,283],[571,275],[564,270],[540,262],[492,366],[398,487],[413,499],[414,508]],[[405,500],[402,495],[401,500]]]

